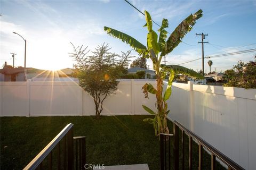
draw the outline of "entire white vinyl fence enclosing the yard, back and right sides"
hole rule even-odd
[[[148,80],[121,80],[102,115],[147,114]],[[156,85],[155,81],[150,81]],[[165,82],[166,87],[166,82]],[[94,115],[93,99],[76,82],[0,82],[1,116]],[[256,167],[256,89],[173,83],[169,118],[177,120],[245,169]]]

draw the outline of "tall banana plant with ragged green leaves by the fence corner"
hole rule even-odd
[[[165,30],[169,23],[167,19],[163,19],[161,28],[158,29],[159,38],[157,33],[152,29],[152,19],[150,14],[145,11],[146,24],[143,27],[147,27],[147,46],[141,44],[138,40],[133,37],[117,31],[115,29],[104,27],[104,30],[107,31],[108,35],[113,36],[122,40],[124,43],[129,44],[140,56],[145,58],[150,58],[153,63],[153,69],[156,72],[156,88],[150,84],[146,83],[143,87],[143,93],[145,97],[148,98],[148,93],[156,96],[156,107],[157,111],[153,111],[149,107],[142,105],[142,107],[151,115],[154,115],[154,118],[146,118],[145,122],[153,124],[155,129],[155,135],[159,133],[169,133],[167,127],[167,114],[170,112],[166,101],[170,98],[172,93],[172,81],[174,74],[182,73],[187,74],[193,77],[202,78],[201,74],[182,67],[179,65],[164,65],[161,64],[162,57],[171,53],[172,50],[181,43],[181,39],[186,35],[188,31],[193,28],[193,25],[196,23],[196,20],[201,18],[202,10],[198,10],[195,14],[190,14],[185,20],[183,20],[177,28],[171,33],[170,37],[167,38],[167,31]],[[167,40],[166,40],[167,38]],[[163,80],[169,74],[169,80],[167,83],[167,88],[163,94]]]

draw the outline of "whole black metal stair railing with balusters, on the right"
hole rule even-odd
[[[185,169],[185,133],[189,138],[189,159],[188,169],[192,169],[193,160],[193,140],[198,143],[198,170],[202,170],[203,166],[203,148],[211,152],[211,169],[216,169],[216,158],[221,160],[228,166],[228,170],[244,170],[233,160],[222,154],[195,133],[186,129],[177,121],[173,121],[173,134],[160,134],[160,167],[161,170],[171,169],[171,136],[173,135],[173,169],[180,169],[180,151],[179,151],[179,130],[181,131],[181,169]],[[187,167],[186,167],[187,169]]]

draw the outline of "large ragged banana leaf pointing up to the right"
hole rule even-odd
[[[196,23],[196,20],[203,16],[202,10],[198,10],[194,15],[190,14],[185,20],[183,20],[177,28],[171,33],[167,39],[165,48],[163,48],[161,56],[164,56],[177,47],[181,43],[181,39],[190,31]]]

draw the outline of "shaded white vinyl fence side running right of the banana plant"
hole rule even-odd
[[[173,83],[169,117],[245,169],[256,168],[256,89]]]

